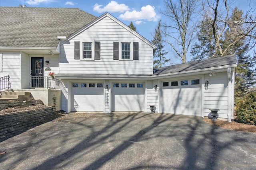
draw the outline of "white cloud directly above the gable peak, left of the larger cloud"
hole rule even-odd
[[[125,4],[118,4],[116,1],[111,1],[106,6],[102,8],[103,5],[95,4],[93,10],[102,13],[102,12],[124,12],[130,10]]]

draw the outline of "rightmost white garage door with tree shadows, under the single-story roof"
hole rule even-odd
[[[201,116],[200,79],[162,82],[162,112]]]

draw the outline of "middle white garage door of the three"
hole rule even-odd
[[[113,83],[112,111],[144,111],[143,83]]]

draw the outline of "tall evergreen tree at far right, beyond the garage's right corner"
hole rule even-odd
[[[242,24],[234,22],[241,20],[244,20],[243,12],[236,7],[229,18],[229,29],[225,32],[225,39],[222,43],[224,48],[236,40],[238,36],[236,33],[241,32]],[[244,37],[227,49],[228,54],[236,54],[235,96],[244,96],[248,92],[249,87],[255,84],[255,74],[252,70],[253,66],[255,66],[255,60],[250,55],[246,55],[249,49],[249,43],[246,41],[246,37]]]

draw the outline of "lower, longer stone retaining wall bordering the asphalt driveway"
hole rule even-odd
[[[58,117],[56,107],[0,114],[0,139],[22,133]]]

